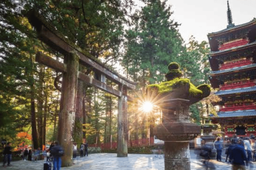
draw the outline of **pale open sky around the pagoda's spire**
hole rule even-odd
[[[207,34],[227,28],[227,0],[168,0],[174,12],[171,19],[181,26],[179,32],[188,43],[191,35],[198,42]],[[229,0],[233,23],[240,25],[256,18],[256,0]]]

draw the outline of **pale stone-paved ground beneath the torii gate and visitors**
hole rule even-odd
[[[191,170],[202,168],[200,160],[196,159],[193,150],[190,152]],[[225,155],[222,156],[222,162],[211,160],[216,166],[216,170],[231,170],[231,165],[224,162]],[[43,170],[44,160],[40,161],[12,161],[11,166],[0,166],[0,170]],[[249,170],[256,170],[254,167],[247,167]],[[164,170],[164,156],[156,154],[128,154],[128,157],[117,157],[116,153],[95,153],[88,157],[76,157],[74,165],[71,167],[62,167],[61,170]]]

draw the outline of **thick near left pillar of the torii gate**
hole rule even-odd
[[[67,54],[64,60],[67,64],[67,72],[64,72],[62,77],[58,141],[65,152],[62,166],[72,166],[73,147],[70,146],[73,146],[79,57],[73,51]]]

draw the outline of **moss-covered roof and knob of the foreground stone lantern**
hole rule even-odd
[[[172,62],[168,65],[169,71],[165,75],[167,81],[147,86],[147,92],[154,92],[168,99],[186,99],[190,104],[196,103],[210,95],[210,85],[194,86],[189,79],[181,78],[179,64]]]

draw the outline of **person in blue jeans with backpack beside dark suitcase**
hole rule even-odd
[[[61,156],[64,155],[63,148],[59,145],[58,142],[54,142],[54,146],[51,148],[53,156],[53,170],[60,170],[61,168]]]

